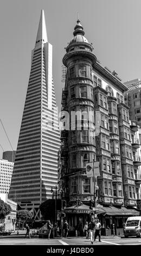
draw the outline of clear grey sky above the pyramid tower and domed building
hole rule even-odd
[[[116,70],[122,82],[141,79],[140,0],[0,0],[0,118],[16,150],[41,9],[53,45],[53,80],[61,106],[62,58],[76,21],[84,27],[102,66]],[[0,123],[0,144],[11,150]],[[0,147],[0,159],[3,150]]]

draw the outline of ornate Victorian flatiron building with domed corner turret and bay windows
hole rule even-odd
[[[141,182],[138,172],[141,161],[136,157],[139,143],[135,145],[131,141],[137,137],[138,126],[136,121],[130,121],[129,107],[124,102],[128,88],[121,83],[116,71],[102,67],[84,34],[78,20],[62,60],[66,66],[66,82],[62,91],[58,170],[59,187],[71,208],[66,209],[70,226],[79,225],[81,229],[88,216],[86,207],[85,215],[82,206],[79,211],[76,200],[80,205],[89,205],[92,200],[106,211],[110,207],[114,212],[120,208],[125,214],[125,207],[137,205],[137,188]],[[98,161],[100,168],[96,186],[93,178],[86,175],[86,164],[93,161]],[[138,180],[135,174],[139,174]],[[130,214],[129,210],[127,215]],[[123,223],[121,212],[116,220],[110,216],[107,217],[110,227],[113,222],[117,228]],[[101,221],[105,227],[105,218]]]

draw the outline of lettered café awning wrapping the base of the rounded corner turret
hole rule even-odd
[[[99,208],[99,211],[97,211],[97,214],[105,212],[102,209],[103,208]],[[91,212],[93,212],[93,210],[90,210],[89,206],[86,204],[82,204],[80,206],[73,205],[66,208],[66,214],[90,214]]]

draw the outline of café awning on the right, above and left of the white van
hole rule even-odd
[[[123,215],[130,215],[130,216],[139,216],[139,211],[136,209],[127,209],[125,207],[116,208],[114,206],[104,207],[103,210],[105,211],[104,215],[107,216],[123,216]]]

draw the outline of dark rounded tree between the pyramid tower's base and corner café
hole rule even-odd
[[[48,199],[39,206],[44,220],[55,222],[55,199]],[[61,210],[61,199],[56,200],[56,210]]]

